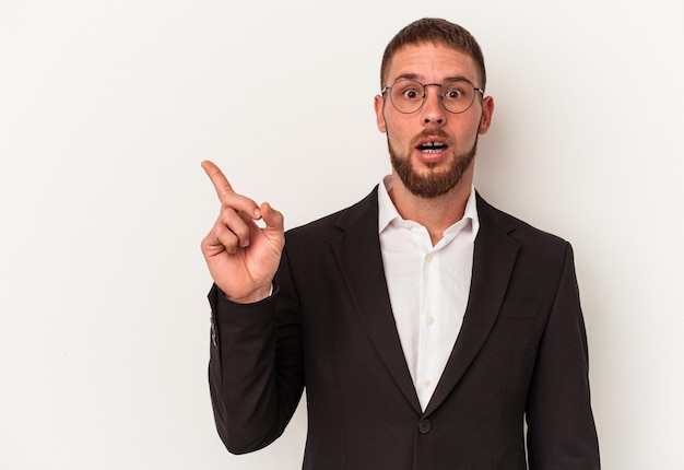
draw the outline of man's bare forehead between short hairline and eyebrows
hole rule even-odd
[[[422,43],[404,46],[392,56],[387,70],[387,84],[400,78],[423,83],[463,78],[477,84],[477,69],[467,54],[441,44]]]

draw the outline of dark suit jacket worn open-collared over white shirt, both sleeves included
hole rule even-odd
[[[237,305],[214,286],[210,387],[228,450],[278,438],[306,386],[305,469],[599,469],[571,248],[480,196],[477,213],[463,325],[424,412],[390,307],[377,191],[290,231],[271,297]]]

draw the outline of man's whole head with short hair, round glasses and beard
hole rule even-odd
[[[387,46],[381,78],[375,111],[396,185],[421,198],[469,191],[477,136],[494,113],[475,39],[445,20],[418,20]]]

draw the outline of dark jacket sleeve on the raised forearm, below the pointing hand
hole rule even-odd
[[[286,254],[276,279],[291,286]],[[235,304],[214,285],[209,385],[216,430],[233,454],[268,446],[285,430],[304,390],[296,296],[279,282],[270,297]]]

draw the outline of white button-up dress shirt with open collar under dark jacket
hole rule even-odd
[[[480,221],[471,189],[463,219],[433,246],[427,230],[399,215],[389,197],[392,177],[378,188],[382,263],[397,331],[423,411],[461,330]]]

